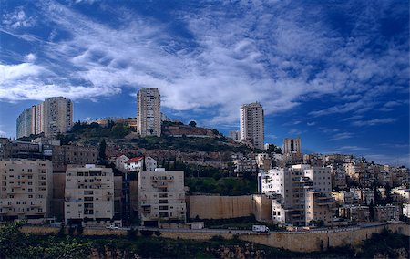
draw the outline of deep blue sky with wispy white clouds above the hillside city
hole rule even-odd
[[[409,166],[408,1],[0,0],[0,135],[45,98],[74,119],[135,117],[159,88],[171,119]]]

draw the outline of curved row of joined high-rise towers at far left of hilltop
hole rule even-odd
[[[17,118],[17,138],[45,133],[55,136],[73,126],[73,102],[63,97],[46,98],[44,102],[25,109]]]

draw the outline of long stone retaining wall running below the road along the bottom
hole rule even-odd
[[[244,241],[260,243],[276,248],[284,248],[295,252],[313,252],[327,250],[329,247],[343,246],[346,244],[360,243],[372,236],[372,233],[381,233],[384,228],[392,232],[402,233],[410,236],[410,228],[404,223],[390,223],[367,228],[338,229],[326,231],[311,231],[307,233],[241,233],[239,238]],[[23,233],[58,233],[57,227],[24,226]],[[126,230],[88,229],[85,228],[84,235],[126,235]],[[161,232],[161,237],[181,238],[192,240],[208,240],[212,236],[221,235],[231,239],[233,233],[211,233],[211,232],[187,232],[187,230],[167,230]]]

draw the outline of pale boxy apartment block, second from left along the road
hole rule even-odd
[[[114,173],[111,168],[88,164],[68,167],[64,202],[66,223],[101,221],[114,217]]]

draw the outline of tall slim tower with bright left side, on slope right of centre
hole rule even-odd
[[[241,106],[241,141],[263,150],[264,116],[259,102]]]

